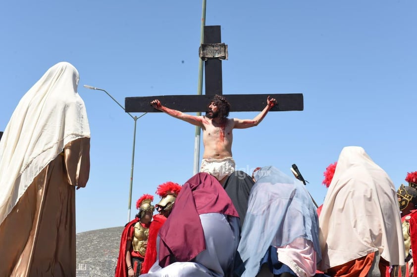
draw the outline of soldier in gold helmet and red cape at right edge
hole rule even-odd
[[[407,174],[408,186],[401,184],[397,191],[403,224],[406,265],[394,268],[395,277],[409,277],[416,272],[417,255],[417,171]],[[397,273],[398,271],[398,273]]]

